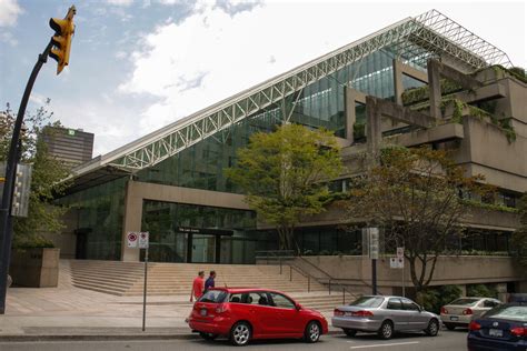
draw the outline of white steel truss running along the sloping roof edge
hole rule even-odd
[[[495,63],[510,66],[505,52],[432,10],[397,22],[125,146],[102,157],[103,164],[100,166],[109,164],[132,172],[152,167],[387,47],[397,51],[396,57],[417,54],[416,63],[421,67],[426,67],[426,59],[430,56],[449,56],[474,69]],[[81,166],[74,172],[82,174],[90,169],[92,167]]]

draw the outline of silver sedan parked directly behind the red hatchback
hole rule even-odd
[[[390,339],[398,331],[425,331],[436,337],[439,317],[422,310],[414,301],[401,297],[361,297],[349,305],[334,311],[331,324],[341,328],[348,337],[357,331],[376,332],[382,339]]]

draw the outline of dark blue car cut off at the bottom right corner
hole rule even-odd
[[[527,303],[500,304],[470,322],[469,351],[527,350]]]

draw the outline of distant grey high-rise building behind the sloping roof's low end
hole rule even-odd
[[[71,167],[91,160],[93,152],[93,133],[80,129],[46,127],[42,133],[48,144],[48,152]]]

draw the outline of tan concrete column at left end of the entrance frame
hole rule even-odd
[[[141,231],[142,197],[135,191],[135,182],[129,180],[125,194],[125,217],[121,238],[121,261],[139,262],[139,249],[129,249],[127,245],[127,233],[129,231]]]

